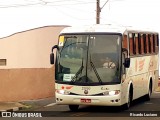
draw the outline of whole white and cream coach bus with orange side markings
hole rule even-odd
[[[64,28],[52,47],[59,105],[130,107],[158,86],[158,33],[114,25]],[[53,50],[57,49],[54,63]]]

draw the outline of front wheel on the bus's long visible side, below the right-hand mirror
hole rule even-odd
[[[127,103],[124,104],[124,106],[123,106],[124,110],[128,110],[131,106],[132,98],[133,98],[133,87],[132,86],[130,87],[130,90],[129,90],[129,93],[128,93],[127,97],[128,97]]]

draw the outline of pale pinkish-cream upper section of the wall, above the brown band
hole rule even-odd
[[[12,68],[50,68],[50,53],[65,26],[37,28],[0,39],[0,59],[7,59]]]

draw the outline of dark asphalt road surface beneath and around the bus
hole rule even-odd
[[[143,98],[133,101],[129,110],[123,110],[121,107],[103,107],[103,106],[80,106],[77,112],[71,112],[67,105],[51,104],[49,106],[35,109],[34,111],[43,111],[42,116],[47,117],[156,117],[160,119],[160,93],[152,94],[150,101]]]

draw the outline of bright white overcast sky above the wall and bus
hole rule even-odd
[[[108,0],[100,0],[102,7]],[[109,0],[101,24],[160,32],[160,0]],[[0,38],[49,25],[96,24],[96,0],[0,0]]]

